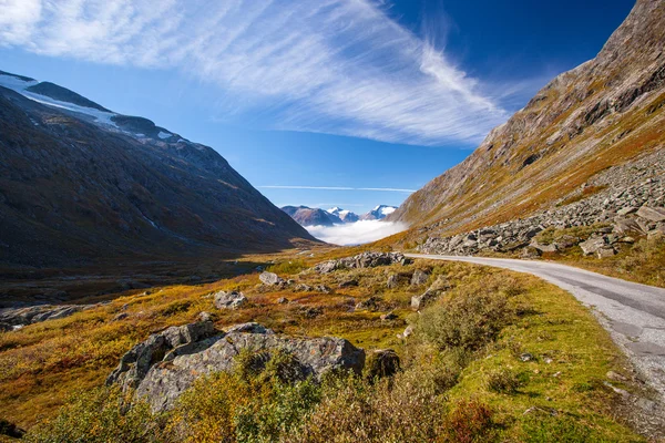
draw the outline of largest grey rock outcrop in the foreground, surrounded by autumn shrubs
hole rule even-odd
[[[233,370],[243,350],[287,352],[299,363],[303,378],[320,379],[336,370],[360,373],[365,365],[365,351],[344,339],[280,337],[258,323],[222,332],[204,321],[150,336],[121,358],[106,383],[136,389],[136,395],[145,398],[154,411],[163,411],[197,378]]]

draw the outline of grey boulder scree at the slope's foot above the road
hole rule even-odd
[[[665,234],[665,150],[623,166],[610,168],[592,178],[586,186],[560,199],[555,205],[528,218],[488,226],[451,237],[438,237],[444,224],[421,229],[428,233],[419,247],[426,254],[475,255],[482,251],[505,253],[523,249],[525,258],[567,249],[590,238],[563,236],[555,243],[542,244],[534,237],[546,228],[564,229],[606,225],[594,233],[606,245],[617,245],[631,235]],[[585,189],[602,189],[585,196]],[[566,200],[579,202],[565,204]],[[604,237],[603,237],[604,236]],[[600,240],[595,240],[596,243]],[[591,244],[589,244],[591,245]],[[530,249],[536,249],[531,251]],[[583,248],[586,249],[586,246]],[[615,248],[613,248],[615,249]],[[596,254],[584,250],[584,254]],[[611,255],[605,248],[601,255]]]

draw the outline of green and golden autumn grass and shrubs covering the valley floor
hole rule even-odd
[[[150,295],[136,291],[66,319],[1,334],[0,416],[32,429],[28,441],[39,442],[70,441],[63,432],[90,429],[99,435],[91,442],[113,433],[129,435],[127,441],[162,442],[352,442],[359,435],[370,442],[642,441],[616,420],[610,406],[615,394],[602,383],[610,370],[626,372],[623,357],[567,292],[529,276],[456,262],[419,260],[325,276],[301,268],[273,269],[288,269],[294,274],[280,277],[326,285],[334,292],[265,289],[257,286],[257,274],[243,275]],[[430,284],[444,278],[449,288],[421,316],[409,308],[410,297],[424,290],[408,282],[416,268],[430,271]],[[390,274],[403,276],[398,288],[386,287]],[[350,278],[359,285],[338,288]],[[221,289],[244,291],[250,305],[238,311],[213,309],[206,296]],[[296,303],[279,305],[280,297]],[[369,297],[380,299],[378,310],[350,309]],[[321,313],[308,318],[304,307]],[[120,356],[150,332],[194,321],[202,310],[213,312],[222,329],[253,320],[293,336],[344,337],[368,351],[391,348],[402,371],[378,381],[342,377],[323,384],[278,382],[264,370],[238,371],[201,381],[168,416],[141,405],[133,415],[117,410],[121,394],[100,387]],[[382,321],[380,315],[389,310],[398,319]],[[113,321],[121,311],[129,317]],[[403,341],[397,334],[409,323],[416,333]],[[523,352],[533,360],[523,362]],[[532,408],[535,412],[525,413]],[[84,420],[72,423],[79,415]]]

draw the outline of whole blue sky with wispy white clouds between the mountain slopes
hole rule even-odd
[[[632,6],[6,0],[0,70],[207,144],[277,205],[364,213],[461,162]]]

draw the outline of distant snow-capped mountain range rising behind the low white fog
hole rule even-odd
[[[348,209],[332,207],[328,210],[307,206],[284,206],[282,210],[288,214],[301,226],[334,226],[356,223],[359,220],[381,220],[392,214],[396,206],[379,205],[367,214],[357,215]]]

